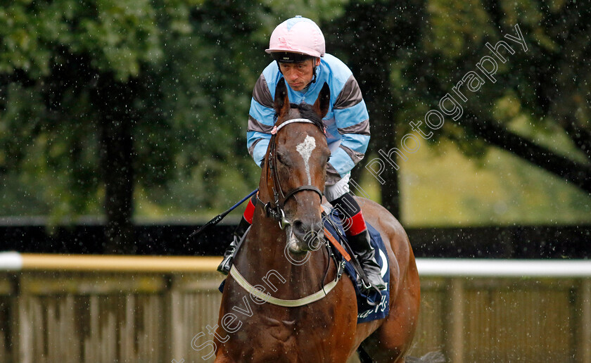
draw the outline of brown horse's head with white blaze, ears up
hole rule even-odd
[[[314,105],[289,103],[284,79],[275,91],[277,129],[269,142],[263,178],[277,215],[284,213],[279,224],[285,227],[291,253],[317,249],[324,234],[321,201],[331,153],[322,117],[328,112],[329,101],[328,84]]]

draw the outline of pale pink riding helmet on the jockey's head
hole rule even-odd
[[[291,52],[323,57],[324,49],[322,30],[312,20],[298,15],[277,25],[271,34],[269,49],[265,52]]]

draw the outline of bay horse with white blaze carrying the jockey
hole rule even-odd
[[[390,262],[390,312],[367,323],[357,324],[351,279],[338,279],[326,248],[306,237],[323,239],[321,191],[330,151],[322,118],[329,100],[327,84],[313,106],[290,104],[285,83],[277,85],[277,129],[262,164],[253,225],[234,257],[215,326],[217,363],[345,363],[360,345],[371,357],[360,355],[362,362],[405,362],[420,288],[398,220],[381,205],[357,198]]]

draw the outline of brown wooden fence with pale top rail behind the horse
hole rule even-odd
[[[0,362],[211,362],[219,260],[0,253]],[[591,363],[591,261],[418,266],[412,355]]]

